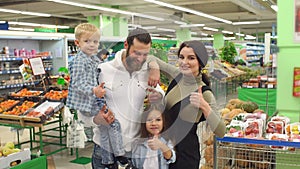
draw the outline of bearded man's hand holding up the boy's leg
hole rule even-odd
[[[102,107],[99,113],[94,117],[94,123],[97,125],[104,124],[109,125],[115,121],[115,116],[110,109],[106,108],[106,105]]]

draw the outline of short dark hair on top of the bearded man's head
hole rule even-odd
[[[144,44],[149,44],[152,42],[151,36],[148,31],[142,28],[136,28],[132,30],[129,35],[127,36],[127,43],[128,47],[130,48],[131,45],[133,45],[133,40],[137,39],[139,42],[142,42]]]

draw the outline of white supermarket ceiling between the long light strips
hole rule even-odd
[[[86,22],[87,16],[92,15],[109,15],[120,16],[128,20],[128,23],[134,23],[142,26],[156,26],[168,29],[181,29],[174,21],[184,21],[189,24],[205,24],[207,27],[227,30],[232,32],[241,32],[244,34],[254,34],[272,32],[272,24],[276,25],[276,12],[270,8],[271,4],[276,5],[277,0],[163,0],[172,5],[192,9],[213,15],[218,18],[232,22],[242,21],[260,21],[257,25],[232,25],[215,21],[205,17],[197,16],[192,13],[183,12],[144,0],[65,0],[69,2],[78,2],[89,5],[100,5],[105,7],[115,7],[120,10],[147,14],[161,17],[164,21],[156,21],[142,17],[132,17],[130,15],[105,12],[101,10],[92,10],[83,7],[76,7],[70,4],[61,4],[49,2],[47,0],[0,0],[0,8],[14,9],[21,11],[40,12],[51,14],[51,17],[36,17],[30,15],[14,14],[3,12],[0,9],[0,20],[33,22],[42,24],[69,25],[75,27],[81,22]],[[15,27],[15,26],[14,26]],[[24,27],[24,26],[23,26]],[[200,33],[214,34],[216,32],[206,31],[203,27],[190,28],[191,31]],[[151,33],[162,35],[173,35],[172,32],[159,31],[150,29]]]

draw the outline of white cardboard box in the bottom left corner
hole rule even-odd
[[[24,149],[23,151],[20,151],[18,153],[13,153],[6,157],[4,156],[0,157],[0,169],[8,169],[13,167],[11,166],[13,162],[16,162],[17,164],[21,164],[30,160],[31,160],[30,149]]]

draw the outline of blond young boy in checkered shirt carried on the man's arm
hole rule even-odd
[[[96,116],[104,110],[109,114],[112,123],[110,125],[101,124],[101,145],[107,147],[103,154],[102,164],[108,168],[114,164],[114,157],[123,165],[127,163],[127,158],[123,157],[125,151],[121,127],[118,120],[110,110],[107,109],[103,96],[105,95],[104,83],[98,84],[97,77],[99,71],[97,66],[101,63],[97,57],[98,46],[100,40],[100,30],[89,23],[79,24],[75,28],[75,44],[80,51],[69,63],[70,69],[70,85],[66,105],[70,109],[75,109],[85,116]],[[107,139],[107,135],[109,138]]]

